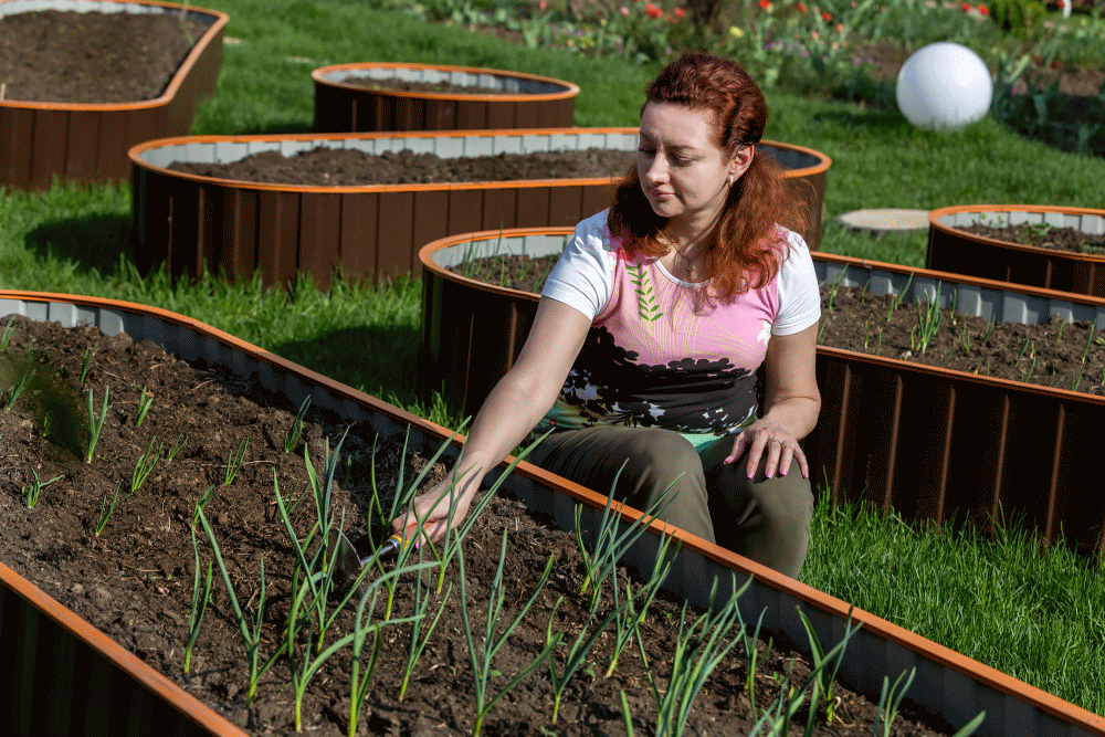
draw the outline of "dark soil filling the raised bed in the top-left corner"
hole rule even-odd
[[[0,18],[2,99],[136,103],[161,95],[208,25],[175,14],[43,10]]]

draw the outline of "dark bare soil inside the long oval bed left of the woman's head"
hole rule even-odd
[[[169,169],[239,181],[348,187],[613,178],[625,173],[627,168],[635,160],[634,157],[634,151],[598,148],[441,158],[410,150],[372,156],[349,148],[318,147],[291,157],[285,157],[280,151],[262,151],[228,164],[173,161]]]

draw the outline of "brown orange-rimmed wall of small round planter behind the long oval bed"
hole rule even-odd
[[[575,124],[579,94],[579,87],[570,82],[471,66],[335,64],[317,69],[311,76],[315,80],[318,133],[566,128]],[[349,82],[351,77],[358,82]],[[373,90],[360,77],[449,83],[471,90]]]

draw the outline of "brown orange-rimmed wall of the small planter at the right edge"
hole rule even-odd
[[[1105,234],[1105,210],[1035,204],[971,204],[933,210],[928,213],[925,263],[938,271],[1105,297],[1105,254],[1020,245],[958,228],[982,222],[998,227],[1046,223],[1101,235]]]

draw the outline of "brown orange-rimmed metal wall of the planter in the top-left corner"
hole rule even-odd
[[[229,17],[214,10],[146,0],[0,0],[0,15],[38,10],[188,13],[209,24],[165,93],[124,104],[0,101],[0,187],[45,190],[54,177],[126,181],[127,151],[151,138],[186,135],[199,99],[214,92]],[[123,10],[119,10],[123,9]]]

